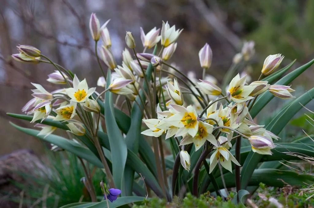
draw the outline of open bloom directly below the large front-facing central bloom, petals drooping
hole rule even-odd
[[[212,134],[214,126],[204,123],[204,122],[199,122],[198,123],[198,131],[194,137],[191,135],[187,134],[185,137],[180,142],[180,145],[187,145],[194,143],[195,145],[195,151],[198,151],[199,148],[203,146],[205,141],[209,141],[215,146],[218,146],[217,140],[215,139],[214,135]]]

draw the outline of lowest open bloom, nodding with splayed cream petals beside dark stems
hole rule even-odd
[[[210,156],[209,173],[211,173],[219,162],[222,167],[232,172],[231,161],[241,166],[234,156],[223,146],[214,147],[216,151]]]

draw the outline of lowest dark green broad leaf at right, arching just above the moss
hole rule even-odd
[[[234,179],[234,174],[228,172],[224,174],[224,179],[227,188],[235,187],[236,181]],[[223,188],[221,177],[216,178],[218,186],[220,189]],[[284,183],[284,182],[285,183]],[[262,182],[268,186],[274,187],[284,187],[286,183],[290,185],[302,186],[305,183],[312,184],[314,182],[314,176],[307,174],[299,174],[295,171],[290,170],[278,170],[278,169],[255,169],[252,177],[248,181],[248,186],[258,186],[258,184]],[[212,184],[208,187],[209,191],[214,191],[214,187]]]

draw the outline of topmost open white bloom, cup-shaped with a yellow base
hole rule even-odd
[[[182,29],[183,30],[183,29]],[[176,30],[176,25],[170,27],[168,22],[162,21],[162,28],[161,28],[161,45],[163,47],[169,46],[171,43],[176,41],[176,39],[181,34],[182,30]]]

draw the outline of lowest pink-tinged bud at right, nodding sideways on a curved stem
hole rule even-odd
[[[249,138],[249,141],[252,146],[252,151],[261,155],[272,155],[270,150],[276,147],[273,140],[264,136],[253,135]]]

